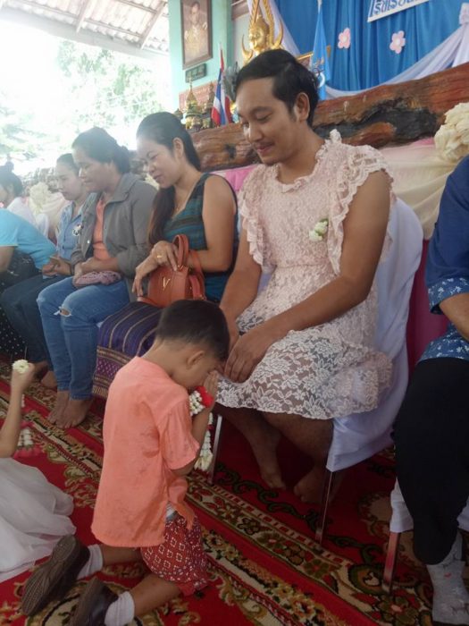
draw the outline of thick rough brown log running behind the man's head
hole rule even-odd
[[[328,137],[332,129],[337,129],[344,143],[381,148],[432,137],[446,111],[459,102],[469,102],[469,63],[420,80],[322,100],[313,126],[321,137]],[[258,161],[240,124],[194,132],[192,140],[205,172]]]

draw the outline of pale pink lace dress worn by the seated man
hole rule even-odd
[[[239,316],[240,332],[305,300],[339,275],[343,221],[356,190],[379,170],[387,171],[387,165],[378,151],[342,144],[337,131],[320,148],[314,172],[291,184],[278,180],[276,166],[255,168],[244,183],[239,210],[250,253],[272,276]],[[326,217],[327,233],[322,241],[312,241],[310,231]],[[222,379],[218,401],[312,419],[374,409],[392,369],[388,357],[373,349],[376,312],[373,286],[366,300],[344,315],[290,331],[273,343],[245,383]]]

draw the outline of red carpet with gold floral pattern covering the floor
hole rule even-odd
[[[8,400],[8,368],[0,363],[0,411]],[[72,520],[84,542],[89,531],[102,459],[101,420],[93,416],[63,432],[46,420],[54,398],[34,385],[26,399],[35,450],[20,461],[41,469],[71,494]],[[97,412],[100,412],[99,410]],[[217,480],[190,478],[189,501],[204,526],[210,559],[210,586],[200,597],[180,598],[132,622],[145,626],[367,626],[431,625],[431,587],[415,562],[411,537],[402,541],[392,596],[381,589],[388,534],[389,492],[394,474],[389,454],[373,457],[348,471],[331,505],[323,546],[314,542],[317,513],[290,492],[265,488],[241,436],[224,425]],[[281,449],[289,485],[306,470],[288,445]],[[1,514],[1,512],[0,512]],[[407,534],[408,535],[408,534]],[[4,546],[1,547],[4,549]],[[120,590],[133,586],[138,566],[108,568],[101,577]],[[28,573],[0,585],[0,624],[58,626],[69,621],[83,582],[58,605],[33,618],[19,610]]]

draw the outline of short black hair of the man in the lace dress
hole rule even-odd
[[[308,126],[313,128],[314,110],[317,106],[318,81],[313,72],[286,50],[267,50],[239,70],[235,84],[235,94],[247,80],[272,78],[272,94],[284,102],[289,112],[297,102],[297,96],[305,93],[309,100]]]

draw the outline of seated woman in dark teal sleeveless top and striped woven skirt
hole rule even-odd
[[[176,266],[172,239],[188,236],[205,275],[205,294],[218,302],[228,276],[236,243],[236,199],[221,176],[200,172],[188,131],[171,113],[148,115],[138,126],[138,156],[159,184],[149,230],[150,255],[138,266],[135,289],[156,267]],[[190,259],[189,259],[190,260]],[[105,320],[99,333],[93,393],[107,397],[116,372],[153,343],[161,309],[132,302]]]

